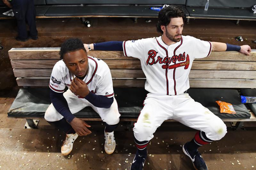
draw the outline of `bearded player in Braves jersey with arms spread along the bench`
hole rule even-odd
[[[194,59],[207,57],[211,51],[240,51],[250,55],[251,48],[248,45],[235,46],[183,36],[183,18],[184,11],[170,5],[158,14],[157,31],[162,36],[84,44],[87,50],[119,50],[124,51],[125,56],[140,59],[146,75],[145,89],[149,93],[133,128],[137,152],[132,170],[143,169],[149,140],[165,120],[174,119],[198,130],[195,137],[183,145],[183,152],[192,160],[195,169],[207,169],[197,149],[220,140],[227,133],[226,125],[219,117],[186,93],[189,89],[189,71]]]

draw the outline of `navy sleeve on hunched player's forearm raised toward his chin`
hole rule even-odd
[[[108,98],[106,96],[97,95],[92,92],[89,92],[89,94],[85,96],[84,99],[92,103],[93,106],[100,108],[109,108],[114,101],[114,97]]]

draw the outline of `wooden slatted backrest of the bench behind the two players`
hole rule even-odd
[[[48,86],[60,48],[12,48],[8,51],[19,86]],[[125,57],[121,51],[90,51],[111,70],[114,87],[144,87],[140,60]],[[190,87],[256,88],[256,51],[251,56],[235,51],[212,52],[196,59],[189,74]]]

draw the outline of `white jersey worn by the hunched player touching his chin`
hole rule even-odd
[[[104,61],[91,56],[88,56],[88,64],[89,70],[83,81],[87,84],[89,90],[97,95],[113,97],[113,83],[108,65]],[[69,88],[75,77],[68,70],[64,61],[60,60],[52,69],[49,87],[54,92],[64,92],[65,86]],[[78,96],[78,98],[81,97]]]

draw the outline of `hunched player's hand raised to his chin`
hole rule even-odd
[[[75,93],[77,96],[81,96],[83,98],[85,98],[85,96],[87,96],[90,92],[86,83],[77,77],[72,80],[69,90],[71,90],[71,92]]]

